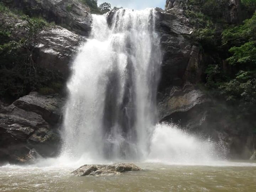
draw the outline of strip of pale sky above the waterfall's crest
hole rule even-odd
[[[109,2],[111,7],[124,7],[128,9],[141,10],[148,7],[161,7],[165,6],[166,0],[98,0],[98,5],[103,2]]]

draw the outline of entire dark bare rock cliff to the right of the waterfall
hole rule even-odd
[[[197,2],[167,0],[165,12],[158,13],[156,28],[163,51],[159,121],[177,123],[182,129],[221,142],[229,150],[228,158],[249,159],[255,147],[253,124],[231,118],[226,103],[208,95],[199,86],[203,70],[216,56],[207,55],[193,39],[197,28],[185,11],[204,11]],[[220,13],[223,22],[241,21],[239,0],[219,1],[220,5],[224,10]]]

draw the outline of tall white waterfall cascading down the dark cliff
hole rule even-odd
[[[119,9],[111,17],[93,15],[67,84],[62,153],[75,159],[145,158],[157,123],[155,11]]]

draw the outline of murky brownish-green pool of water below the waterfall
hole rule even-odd
[[[256,190],[256,162],[211,166],[135,163],[143,171],[75,177],[78,167],[0,167],[0,191],[246,191]]]

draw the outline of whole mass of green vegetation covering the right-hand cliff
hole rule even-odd
[[[204,70],[205,89],[225,100],[234,118],[253,119],[256,107],[256,1],[242,0],[243,22],[225,20],[219,0],[189,1],[186,11],[194,39],[211,59]],[[197,5],[197,6],[195,6]],[[253,123],[254,121],[252,121]]]

